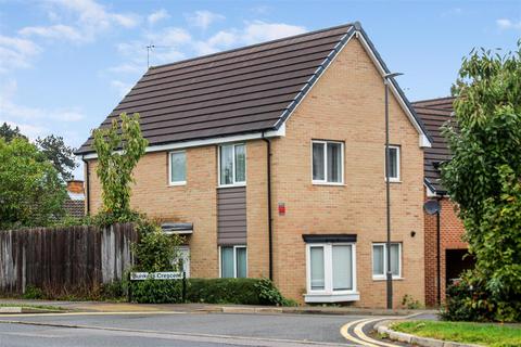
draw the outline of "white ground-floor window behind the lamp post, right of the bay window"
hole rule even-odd
[[[386,243],[372,244],[372,279],[385,280],[387,269],[387,245]],[[402,243],[391,243],[391,272],[393,279],[402,278]]]

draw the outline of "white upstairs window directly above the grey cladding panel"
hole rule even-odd
[[[244,143],[219,146],[219,187],[246,184],[246,145]]]

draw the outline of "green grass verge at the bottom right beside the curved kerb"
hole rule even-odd
[[[392,330],[458,343],[492,347],[521,346],[521,325],[468,322],[408,321],[395,323]]]

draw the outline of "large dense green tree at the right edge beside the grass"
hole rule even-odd
[[[453,157],[442,166],[443,184],[476,258],[473,280],[496,303],[497,319],[520,319],[521,41],[504,56],[472,52],[454,92],[456,124],[445,129]]]

